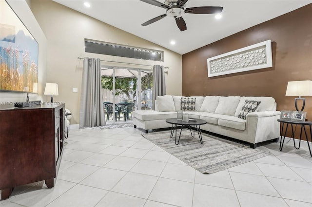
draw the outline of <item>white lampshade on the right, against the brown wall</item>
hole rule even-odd
[[[312,96],[312,81],[289,81],[286,96]]]

